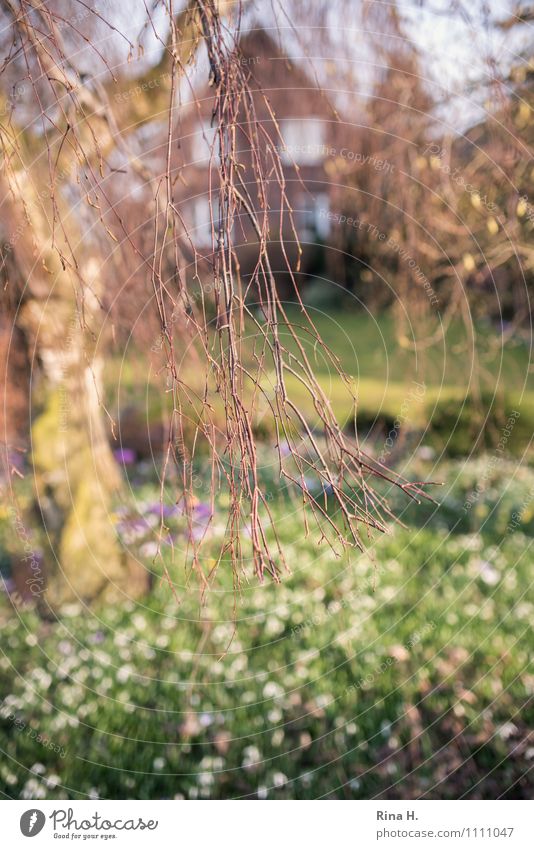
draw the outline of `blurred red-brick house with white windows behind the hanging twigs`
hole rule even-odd
[[[300,64],[289,60],[265,30],[256,29],[243,36],[239,56],[239,61],[250,71],[254,108],[265,133],[262,155],[267,161],[269,146],[272,146],[281,160],[285,202],[274,176],[269,179],[266,193],[269,255],[279,290],[289,294],[292,283],[284,251],[292,268],[296,268],[300,244],[299,285],[322,262],[331,226],[331,186],[325,163],[338,149],[336,137],[340,125],[319,86]],[[209,192],[210,183],[214,187],[217,181],[217,140],[211,121],[212,108],[213,89],[206,86],[196,93],[196,102],[189,105],[188,115],[180,118],[176,132],[180,143],[173,160],[177,207],[190,234],[191,248],[208,260],[218,221],[217,193],[212,191],[210,202]],[[243,179],[255,199],[255,178],[244,115],[238,148]],[[280,210],[287,205],[292,213],[283,216],[281,228]],[[234,224],[233,242],[237,246],[241,275],[246,278],[257,262],[258,243],[244,209]]]

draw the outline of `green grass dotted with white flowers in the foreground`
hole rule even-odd
[[[491,456],[440,471],[439,508],[340,559],[275,500],[292,572],[243,584],[237,630],[231,576],[200,607],[180,556],[179,604],[159,584],[57,623],[4,604],[1,792],[530,797],[534,472]],[[147,515],[157,487],[135,486]]]

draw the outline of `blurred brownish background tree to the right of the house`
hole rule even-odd
[[[528,324],[532,291],[529,14],[513,3],[508,17],[484,4],[420,9],[450,24],[451,39],[455,22],[470,29],[477,71],[463,89],[448,90],[442,65],[414,39],[413,7],[365,4],[375,58],[365,118],[360,104],[353,115],[361,156],[332,167],[345,184],[343,211],[357,212],[363,226],[336,231],[346,258],[335,260],[333,274],[373,307],[394,302],[400,338],[408,305],[429,341],[458,315],[467,325],[505,320],[509,336]],[[524,37],[512,41],[518,31]],[[463,124],[451,124],[459,101]]]

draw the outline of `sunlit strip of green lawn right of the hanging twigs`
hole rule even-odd
[[[312,310],[310,315],[321,338],[353,376],[359,409],[366,414],[398,415],[414,381],[427,389],[425,403],[412,405],[409,411],[408,420],[415,425],[422,425],[436,404],[463,399],[477,387],[487,399],[494,394],[517,403],[522,399],[529,409],[534,402],[529,346],[519,338],[500,344],[487,325],[466,329],[455,320],[447,328],[434,321],[426,327],[414,324],[401,329],[390,314],[375,318],[363,311]],[[289,310],[289,318],[294,327],[301,324],[296,309]],[[340,379],[328,359],[316,354],[310,334],[300,329],[299,336],[343,415],[346,393]],[[287,333],[285,338],[289,339]],[[432,344],[427,344],[429,338]],[[296,353],[293,343],[288,347]]]

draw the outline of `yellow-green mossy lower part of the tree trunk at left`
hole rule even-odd
[[[148,575],[122,548],[113,521],[121,476],[108,443],[92,369],[70,357],[32,427],[36,495],[47,539],[46,600],[116,601],[146,590]]]

